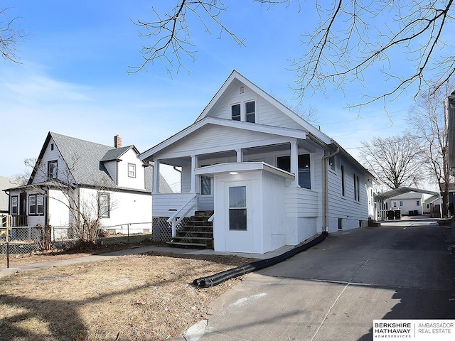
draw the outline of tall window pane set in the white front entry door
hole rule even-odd
[[[247,188],[236,186],[229,188],[229,229],[247,229]]]

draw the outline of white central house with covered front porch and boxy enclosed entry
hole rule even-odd
[[[214,211],[216,251],[264,253],[374,215],[373,175],[235,70],[191,126],[139,157],[154,162],[154,218]],[[181,193],[163,193],[160,165],[181,171]]]

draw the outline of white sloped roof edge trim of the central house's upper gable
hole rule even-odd
[[[317,139],[320,139],[325,144],[331,144],[331,139],[326,134],[323,134],[323,132],[320,131],[319,129],[316,129],[315,126],[312,126],[311,124],[309,124],[307,121],[305,121],[304,119],[299,117],[299,115],[297,115],[291,109],[289,109],[284,104],[279,102],[277,99],[275,99],[271,95],[267,94],[267,92],[262,90],[260,87],[255,85],[253,82],[251,82],[247,78],[243,77],[240,74],[240,72],[238,72],[237,70],[232,70],[232,72],[231,72],[230,76],[228,77],[228,79],[220,87],[220,90],[218,90],[218,92],[215,94],[215,96],[210,100],[210,102],[208,103],[207,107],[205,107],[205,109],[203,109],[203,112],[196,119],[196,122],[200,121],[201,119],[203,119],[203,118],[205,118],[207,116],[208,112],[210,112],[210,109],[212,109],[212,107],[215,106],[215,104],[217,104],[217,102],[223,96],[223,93],[228,89],[229,85],[232,82],[234,82],[235,80],[238,80],[238,81],[242,82],[244,85],[246,85],[247,87],[250,87],[251,90],[253,90],[257,94],[259,94],[259,96],[261,96],[262,98],[267,100],[267,102],[271,103],[272,105],[274,105],[274,107],[277,107],[284,114],[286,114],[289,118],[291,118],[294,121],[296,121],[296,123],[299,124],[303,129],[308,131],[309,134],[314,135]]]

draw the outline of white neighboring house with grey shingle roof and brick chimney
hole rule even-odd
[[[114,144],[49,132],[28,183],[6,190],[12,224],[68,227],[75,220],[69,208],[75,200],[80,210],[100,209],[104,227],[132,224],[150,231],[153,167],[139,160],[136,147],[122,147],[119,136]],[[70,195],[64,193],[68,184]]]

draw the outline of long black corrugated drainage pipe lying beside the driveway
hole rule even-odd
[[[195,286],[200,286],[201,288],[208,288],[210,286],[217,286],[224,281],[227,281],[230,278],[235,278],[237,276],[242,276],[249,274],[252,271],[257,271],[260,269],[267,268],[268,266],[272,266],[278,264],[279,262],[285,261],[296,254],[299,254],[301,251],[305,251],[310,247],[314,247],[316,244],[319,244],[324,239],[326,239],[328,232],[324,231],[321,235],[311,242],[301,245],[300,247],[295,247],[289,251],[284,252],[284,254],[280,254],[279,256],[274,256],[269,259],[261,259],[260,261],[253,261],[252,263],[248,263],[242,266],[237,266],[237,268],[229,269],[223,272],[219,272],[218,274],[214,274],[212,276],[201,277],[197,278],[193,281]]]

